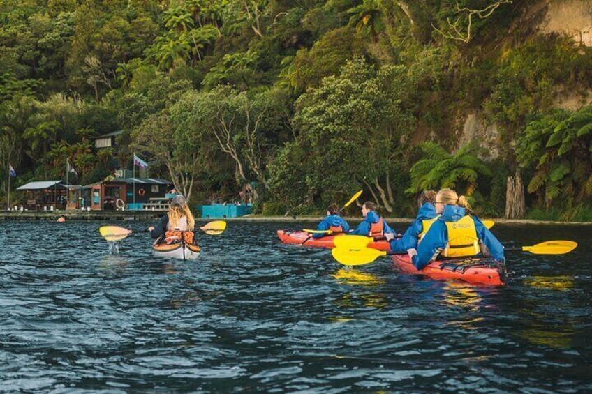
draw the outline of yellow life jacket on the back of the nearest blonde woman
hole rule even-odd
[[[445,222],[448,229],[448,243],[442,251],[444,257],[468,257],[481,252],[475,222],[471,216],[464,216],[457,222]]]

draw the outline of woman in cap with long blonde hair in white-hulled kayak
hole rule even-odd
[[[176,195],[170,202],[168,213],[161,218],[156,228],[150,226],[148,230],[152,239],[157,240],[156,243],[162,241],[172,243],[179,241],[183,236],[185,242],[191,244],[193,243],[194,227],[195,219],[185,197]]]

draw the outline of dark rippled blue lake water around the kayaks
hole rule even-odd
[[[509,255],[488,288],[276,238],[310,223],[229,222],[195,262],[146,234],[108,255],[100,225],[3,222],[0,391],[592,392],[592,227],[496,225],[579,248]]]

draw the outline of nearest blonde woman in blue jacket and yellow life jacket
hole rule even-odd
[[[407,250],[413,265],[421,270],[438,255],[448,258],[483,255],[504,262],[503,246],[481,220],[471,213],[466,197],[442,189],[436,195],[440,217],[429,227],[415,248]]]

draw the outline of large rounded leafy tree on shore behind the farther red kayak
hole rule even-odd
[[[404,167],[403,138],[413,124],[402,103],[414,81],[402,66],[376,70],[358,59],[339,76],[326,77],[318,88],[309,89],[297,101],[294,126],[299,135],[273,163],[272,188],[285,190],[279,174],[286,174],[283,166],[288,165],[306,174],[306,189],[293,190],[301,201],[309,196],[328,204],[364,185],[392,212],[392,181]],[[290,162],[288,157],[299,160]]]

